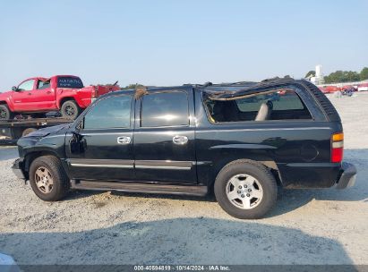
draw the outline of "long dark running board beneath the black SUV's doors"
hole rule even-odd
[[[129,191],[158,194],[178,194],[204,196],[208,192],[207,186],[201,185],[172,185],[162,183],[114,183],[71,181],[72,189],[95,191]]]

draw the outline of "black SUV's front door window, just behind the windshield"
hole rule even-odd
[[[83,129],[128,128],[131,120],[130,96],[104,98],[84,116]]]

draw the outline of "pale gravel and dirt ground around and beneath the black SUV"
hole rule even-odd
[[[0,149],[0,251],[20,264],[368,264],[368,94],[331,98],[354,188],[284,191],[261,220],[229,217],[212,197],[73,192],[39,200]]]

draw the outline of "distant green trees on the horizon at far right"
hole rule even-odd
[[[305,78],[315,76],[314,71],[309,71],[305,74]],[[324,78],[325,83],[340,83],[349,81],[365,81],[368,80],[368,67],[364,67],[361,72],[354,71],[336,71],[331,72]]]

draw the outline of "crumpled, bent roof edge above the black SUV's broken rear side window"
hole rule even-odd
[[[242,96],[251,95],[264,89],[272,87],[283,87],[296,81],[292,78],[274,78],[261,82],[236,82],[224,84],[196,85],[195,88],[201,89],[213,100],[230,100]]]

